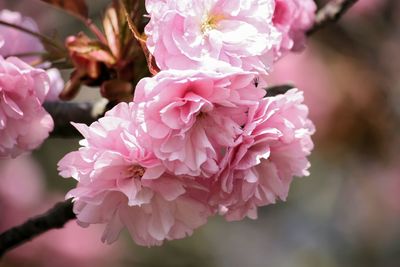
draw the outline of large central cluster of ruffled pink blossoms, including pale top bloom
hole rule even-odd
[[[107,224],[109,243],[126,227],[151,246],[209,216],[256,218],[286,199],[293,176],[308,175],[314,126],[300,91],[266,97],[260,76],[302,46],[311,5],[147,0],[147,46],[161,71],[138,83],[133,102],[74,124],[85,139],[59,162],[78,181],[67,197],[79,223]]]

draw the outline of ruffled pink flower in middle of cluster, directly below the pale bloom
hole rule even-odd
[[[235,145],[247,111],[265,91],[256,75],[161,71],[136,87],[141,131],[154,154],[176,175],[209,177],[219,171],[225,149]]]

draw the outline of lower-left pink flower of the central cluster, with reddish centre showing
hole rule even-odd
[[[81,225],[106,223],[102,240],[111,243],[125,226],[140,245],[190,235],[206,222],[209,210],[191,196],[193,179],[176,177],[143,146],[135,104],[121,103],[90,127],[74,124],[85,137],[79,151],[59,162],[60,174],[78,180],[67,197]]]

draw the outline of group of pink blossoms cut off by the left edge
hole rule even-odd
[[[18,12],[1,10],[0,20],[38,31],[31,18]],[[42,104],[58,99],[64,81],[57,69],[29,65],[41,60],[31,54],[43,51],[36,37],[0,25],[0,158],[37,148],[53,130],[53,119]]]

